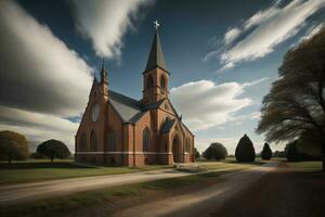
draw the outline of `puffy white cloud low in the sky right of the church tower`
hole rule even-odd
[[[170,98],[183,115],[184,123],[197,131],[232,122],[235,112],[252,102],[248,98],[239,98],[244,89],[265,79],[243,85],[237,82],[217,85],[211,80],[191,81],[172,88]]]

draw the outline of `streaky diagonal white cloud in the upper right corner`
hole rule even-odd
[[[324,0],[294,0],[284,7],[280,2],[257,12],[239,27],[225,34],[225,38],[230,31],[236,33],[235,39],[239,34],[243,37],[237,41],[233,39],[232,46],[225,40],[224,52],[219,55],[223,71],[239,62],[253,61],[273,52],[277,44],[295,36],[306,25],[307,20],[325,5]],[[208,55],[211,54],[206,56]]]

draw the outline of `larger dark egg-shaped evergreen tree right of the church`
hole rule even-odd
[[[235,156],[237,162],[253,162],[255,161],[255,149],[251,140],[247,135],[240,138],[236,150]]]

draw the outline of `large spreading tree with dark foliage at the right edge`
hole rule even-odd
[[[325,171],[324,60],[325,27],[285,54],[280,79],[263,99],[257,132],[265,132],[269,142],[313,138],[321,148]]]

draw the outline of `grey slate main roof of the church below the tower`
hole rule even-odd
[[[135,124],[148,110],[157,108],[164,100],[151,104],[142,104],[127,95],[108,90],[108,100],[123,123]]]

